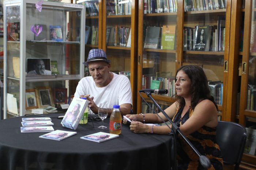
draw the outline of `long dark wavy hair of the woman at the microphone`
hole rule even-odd
[[[208,81],[206,75],[204,74],[203,69],[196,65],[181,66],[177,70],[176,76],[180,70],[183,70],[191,80],[192,98],[190,107],[194,110],[199,100],[208,99],[214,103],[215,107],[218,110],[218,106],[215,103],[214,98],[211,96],[210,87],[208,86]],[[178,96],[177,92],[175,93],[174,96],[178,103],[178,108],[185,106],[185,99],[183,97]]]

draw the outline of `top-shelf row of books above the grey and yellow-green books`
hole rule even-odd
[[[143,6],[144,14],[177,12],[177,0],[144,0]]]

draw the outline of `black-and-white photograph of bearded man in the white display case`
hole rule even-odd
[[[50,58],[27,58],[26,66],[28,76],[52,75]]]

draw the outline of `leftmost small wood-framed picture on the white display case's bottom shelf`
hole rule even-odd
[[[26,96],[26,109],[38,108],[37,94],[35,93],[35,89],[27,89],[25,96]]]

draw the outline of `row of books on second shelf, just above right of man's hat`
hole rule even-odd
[[[107,26],[106,44],[108,46],[131,47],[131,28],[121,25]]]

